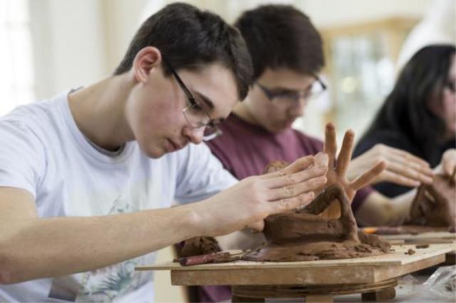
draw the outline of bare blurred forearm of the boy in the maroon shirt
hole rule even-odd
[[[395,198],[378,192],[371,193],[356,212],[356,220],[363,225],[400,225],[409,220],[410,207],[416,190],[410,190]]]

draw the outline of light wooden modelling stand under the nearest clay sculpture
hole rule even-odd
[[[182,267],[177,262],[136,267],[170,270],[172,285],[232,285],[233,302],[264,302],[265,297],[302,297],[332,302],[336,294],[363,293],[363,298],[395,296],[396,279],[445,261],[455,243],[393,245],[393,252],[373,257],[309,262],[237,261]],[[415,253],[408,255],[406,252]]]

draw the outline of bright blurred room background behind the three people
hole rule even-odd
[[[140,23],[172,2],[0,0],[0,116],[108,77]],[[332,121],[339,142],[348,128],[361,137],[398,69],[424,40],[456,42],[455,0],[185,2],[229,23],[259,4],[293,4],[309,15],[323,36],[326,68],[321,78],[328,90],[311,100],[294,127],[321,138],[324,124]],[[182,301],[180,290],[169,286],[169,273],[161,275],[157,301]]]

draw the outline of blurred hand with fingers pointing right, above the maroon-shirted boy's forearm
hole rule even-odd
[[[384,144],[376,144],[364,154],[352,159],[350,166],[348,166],[347,178],[349,180],[355,179],[362,171],[366,171],[380,161],[385,162],[386,169],[370,184],[388,181],[403,186],[416,187],[420,183],[432,183],[432,169],[425,160],[407,151],[388,147]]]

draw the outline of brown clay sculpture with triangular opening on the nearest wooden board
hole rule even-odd
[[[340,203],[341,217],[318,216],[334,200]],[[272,215],[264,223],[266,245],[244,255],[242,260],[333,260],[381,255],[390,249],[390,245],[377,236],[358,232],[350,203],[338,184],[325,188],[303,210]]]

